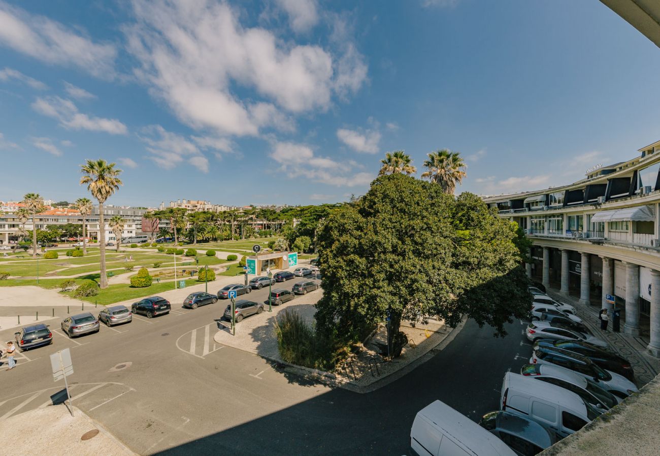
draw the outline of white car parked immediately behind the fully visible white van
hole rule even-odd
[[[573,391],[601,413],[607,412],[619,403],[616,396],[603,389],[590,378],[581,376],[561,366],[555,366],[554,364],[525,364],[520,369],[520,374],[560,386],[568,389],[568,391]]]

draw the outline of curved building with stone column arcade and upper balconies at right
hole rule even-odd
[[[649,328],[648,351],[660,357],[660,141],[638,152],[570,185],[484,201],[533,242],[530,277],[583,304],[621,309],[623,331]]]

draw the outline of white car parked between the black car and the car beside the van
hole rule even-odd
[[[591,378],[603,389],[622,399],[638,391],[637,386],[624,376],[603,369],[591,362],[589,358],[570,351],[537,347],[532,352],[529,364],[555,364],[570,369],[581,376]]]

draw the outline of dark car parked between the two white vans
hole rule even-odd
[[[554,432],[515,413],[488,412],[481,417],[479,426],[500,438],[521,456],[536,455],[557,442]]]

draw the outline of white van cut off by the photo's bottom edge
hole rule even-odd
[[[502,440],[440,401],[414,417],[411,449],[418,456],[515,456]]]

